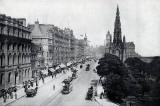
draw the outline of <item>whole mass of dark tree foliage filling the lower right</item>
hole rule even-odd
[[[97,73],[105,77],[103,87],[111,101],[121,103],[127,96],[139,98],[145,94],[160,98],[160,57],[155,57],[151,63],[137,57],[123,63],[117,56],[105,54],[99,60]],[[155,81],[150,80],[150,76]]]

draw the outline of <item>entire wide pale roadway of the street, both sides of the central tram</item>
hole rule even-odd
[[[99,79],[97,73],[93,72],[97,63],[90,63],[90,71],[85,71],[86,64],[83,65],[82,69],[78,69],[78,78],[73,80],[73,90],[69,94],[61,94],[61,90],[62,81],[68,76],[71,76],[71,71],[40,87],[36,96],[24,96],[6,106],[117,106],[105,99],[101,100],[98,97],[95,97],[92,101],[85,100],[92,80]],[[55,85],[55,90],[53,90],[53,85]]]

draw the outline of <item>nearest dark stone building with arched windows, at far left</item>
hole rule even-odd
[[[31,78],[31,37],[26,19],[0,14],[0,89]]]

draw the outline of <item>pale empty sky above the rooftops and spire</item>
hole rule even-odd
[[[91,45],[104,45],[108,30],[113,35],[117,4],[126,41],[142,56],[160,55],[160,0],[0,0],[0,13],[69,27],[77,38],[86,33]]]

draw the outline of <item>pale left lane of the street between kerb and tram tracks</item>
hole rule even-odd
[[[71,72],[67,72],[66,74],[60,76],[57,79],[54,79],[44,86],[38,89],[37,95],[34,97],[22,97],[17,101],[14,101],[6,106],[40,106],[44,104],[46,100],[50,98],[50,96],[56,95],[57,92],[62,87],[62,81],[66,79],[68,76],[71,76]],[[53,90],[53,85],[55,85],[55,90]]]

